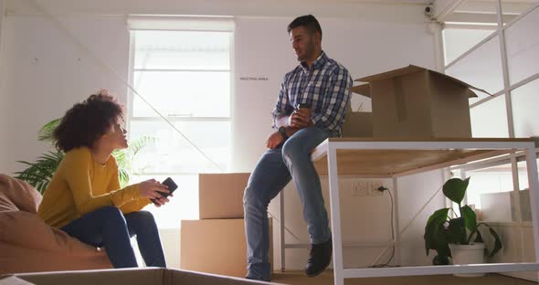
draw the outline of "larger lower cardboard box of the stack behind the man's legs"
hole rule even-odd
[[[270,224],[270,263],[273,271],[272,222]],[[182,269],[235,277],[247,274],[245,220],[182,220]]]

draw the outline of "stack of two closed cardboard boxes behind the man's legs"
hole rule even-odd
[[[246,276],[243,192],[248,177],[249,174],[199,174],[200,219],[182,221],[182,269]],[[272,252],[270,244],[271,263]]]

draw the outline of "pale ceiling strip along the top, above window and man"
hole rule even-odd
[[[201,15],[423,21],[432,0],[5,0],[7,15],[39,15],[40,9],[62,15]]]

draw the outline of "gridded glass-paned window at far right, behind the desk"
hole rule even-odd
[[[499,16],[500,15],[500,16]],[[534,96],[539,74],[537,39],[539,1],[462,1],[443,20],[445,73],[494,94],[470,100],[473,137],[536,136]],[[459,175],[471,176],[468,203],[482,218],[496,222],[527,220],[529,194],[522,156],[487,160]],[[518,185],[513,185],[518,177]],[[528,196],[526,196],[528,195]],[[519,197],[518,199],[516,197]],[[516,205],[518,204],[518,205]],[[521,209],[520,217],[515,215]]]

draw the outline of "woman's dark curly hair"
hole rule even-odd
[[[100,90],[66,112],[53,132],[56,146],[64,152],[80,146],[92,148],[122,116],[122,105],[107,90]]]

